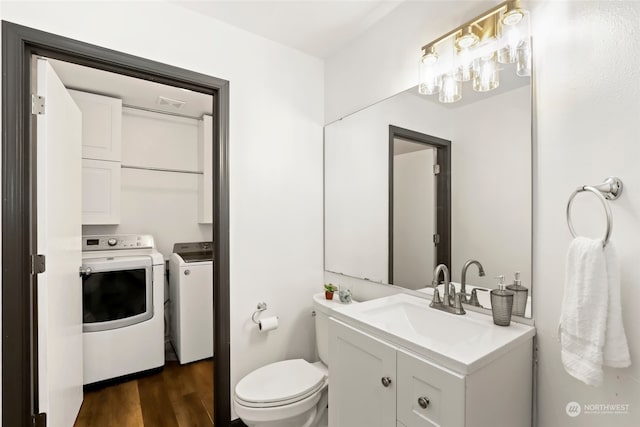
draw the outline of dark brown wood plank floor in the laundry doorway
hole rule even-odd
[[[85,392],[74,427],[211,427],[213,361],[180,366]]]

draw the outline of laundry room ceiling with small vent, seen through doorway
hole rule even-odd
[[[122,104],[126,106],[164,111],[193,118],[199,118],[203,114],[211,114],[212,112],[213,99],[211,95],[55,59],[47,60],[65,87],[69,89],[120,98]],[[159,96],[184,101],[185,104],[180,108],[161,105],[158,103]]]

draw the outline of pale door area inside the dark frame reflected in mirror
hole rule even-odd
[[[395,138],[393,142],[393,278],[424,288],[435,268],[436,150]]]

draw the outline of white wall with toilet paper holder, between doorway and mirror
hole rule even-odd
[[[322,61],[165,2],[3,2],[1,13],[230,81],[231,386],[266,363],[312,359],[311,295],[322,285]],[[251,323],[259,301],[280,316],[277,331],[258,334]]]

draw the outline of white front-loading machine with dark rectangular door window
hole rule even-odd
[[[164,257],[149,235],[82,238],[83,383],[164,366]]]

